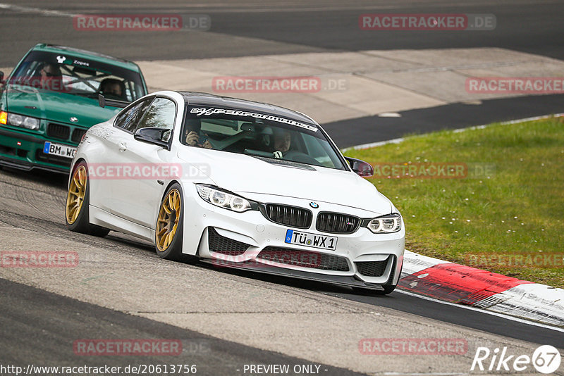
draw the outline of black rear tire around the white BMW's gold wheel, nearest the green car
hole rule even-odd
[[[79,171],[79,169],[84,169],[84,196],[80,199],[80,195],[77,195],[77,192],[71,189],[76,188],[76,182],[73,186],[73,180],[75,179],[75,174]],[[73,199],[75,197],[75,199]],[[72,210],[70,207],[71,201],[82,201],[78,204],[78,207],[75,205],[75,210],[78,211],[78,215]],[[81,232],[82,234],[89,234],[94,235],[96,237],[105,237],[110,230],[100,227],[97,225],[90,224],[89,220],[89,213],[88,213],[88,206],[90,203],[90,180],[88,180],[88,168],[85,161],[81,161],[77,163],[73,168],[71,174],[71,180],[68,183],[67,189],[67,198],[66,198],[66,206],[65,206],[65,222],[68,230],[73,232]]]

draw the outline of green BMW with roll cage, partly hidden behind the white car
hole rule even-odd
[[[66,173],[87,129],[115,115],[112,103],[147,94],[139,66],[95,52],[37,44],[4,80],[0,165]],[[102,94],[107,105],[99,106]]]

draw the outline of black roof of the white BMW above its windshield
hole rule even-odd
[[[229,96],[219,96],[202,92],[177,92],[182,95],[190,105],[214,106],[219,108],[231,108],[240,111],[257,111],[269,113],[270,115],[283,116],[291,120],[312,123],[318,125],[309,116],[274,104],[247,101],[245,99],[231,98]]]

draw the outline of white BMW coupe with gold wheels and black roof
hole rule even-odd
[[[117,106],[114,101],[105,101]],[[104,97],[100,97],[104,106]],[[162,258],[396,288],[405,228],[307,115],[196,92],[157,92],[94,125],[71,166],[66,223],[154,243]]]

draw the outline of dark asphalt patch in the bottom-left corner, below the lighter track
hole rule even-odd
[[[204,375],[223,375],[249,363],[308,363],[303,359],[221,341],[1,279],[0,296],[5,305],[0,341],[4,349],[2,363],[23,364],[33,359],[36,364],[44,365],[99,366],[98,359],[74,355],[68,351],[71,346],[66,345],[77,338],[110,338],[116,335],[123,338],[180,339],[184,351],[175,361],[205,365],[199,370]],[[29,325],[30,322],[35,322],[35,325]],[[38,327],[42,328],[39,334]],[[111,356],[107,356],[104,363],[111,367],[124,366],[122,359]],[[166,363],[167,356],[128,357],[131,365]],[[342,368],[321,367],[326,375],[360,375]]]

